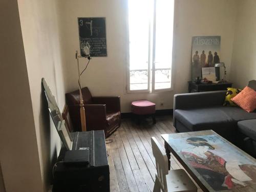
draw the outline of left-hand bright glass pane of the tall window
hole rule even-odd
[[[149,27],[148,0],[129,0],[130,90],[147,90]]]

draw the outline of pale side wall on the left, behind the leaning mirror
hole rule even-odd
[[[65,105],[62,55],[59,42],[58,9],[53,0],[18,1],[20,23],[28,68],[33,117],[40,160],[42,183],[48,190],[52,166],[59,154],[61,142],[42,92],[44,77],[56,97],[59,109]]]

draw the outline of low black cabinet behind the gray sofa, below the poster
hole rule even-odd
[[[221,82],[221,83],[195,83],[192,81],[188,81],[188,93],[194,92],[205,92],[205,91],[220,91],[227,90],[227,88],[231,88],[231,82]]]

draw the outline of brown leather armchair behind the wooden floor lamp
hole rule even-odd
[[[84,109],[86,110],[87,131],[104,130],[109,137],[121,123],[120,96],[92,97],[87,87],[82,88]],[[81,131],[79,90],[66,93],[74,131]]]

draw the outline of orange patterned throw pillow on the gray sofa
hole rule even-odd
[[[231,100],[248,113],[256,109],[256,91],[247,86]]]

